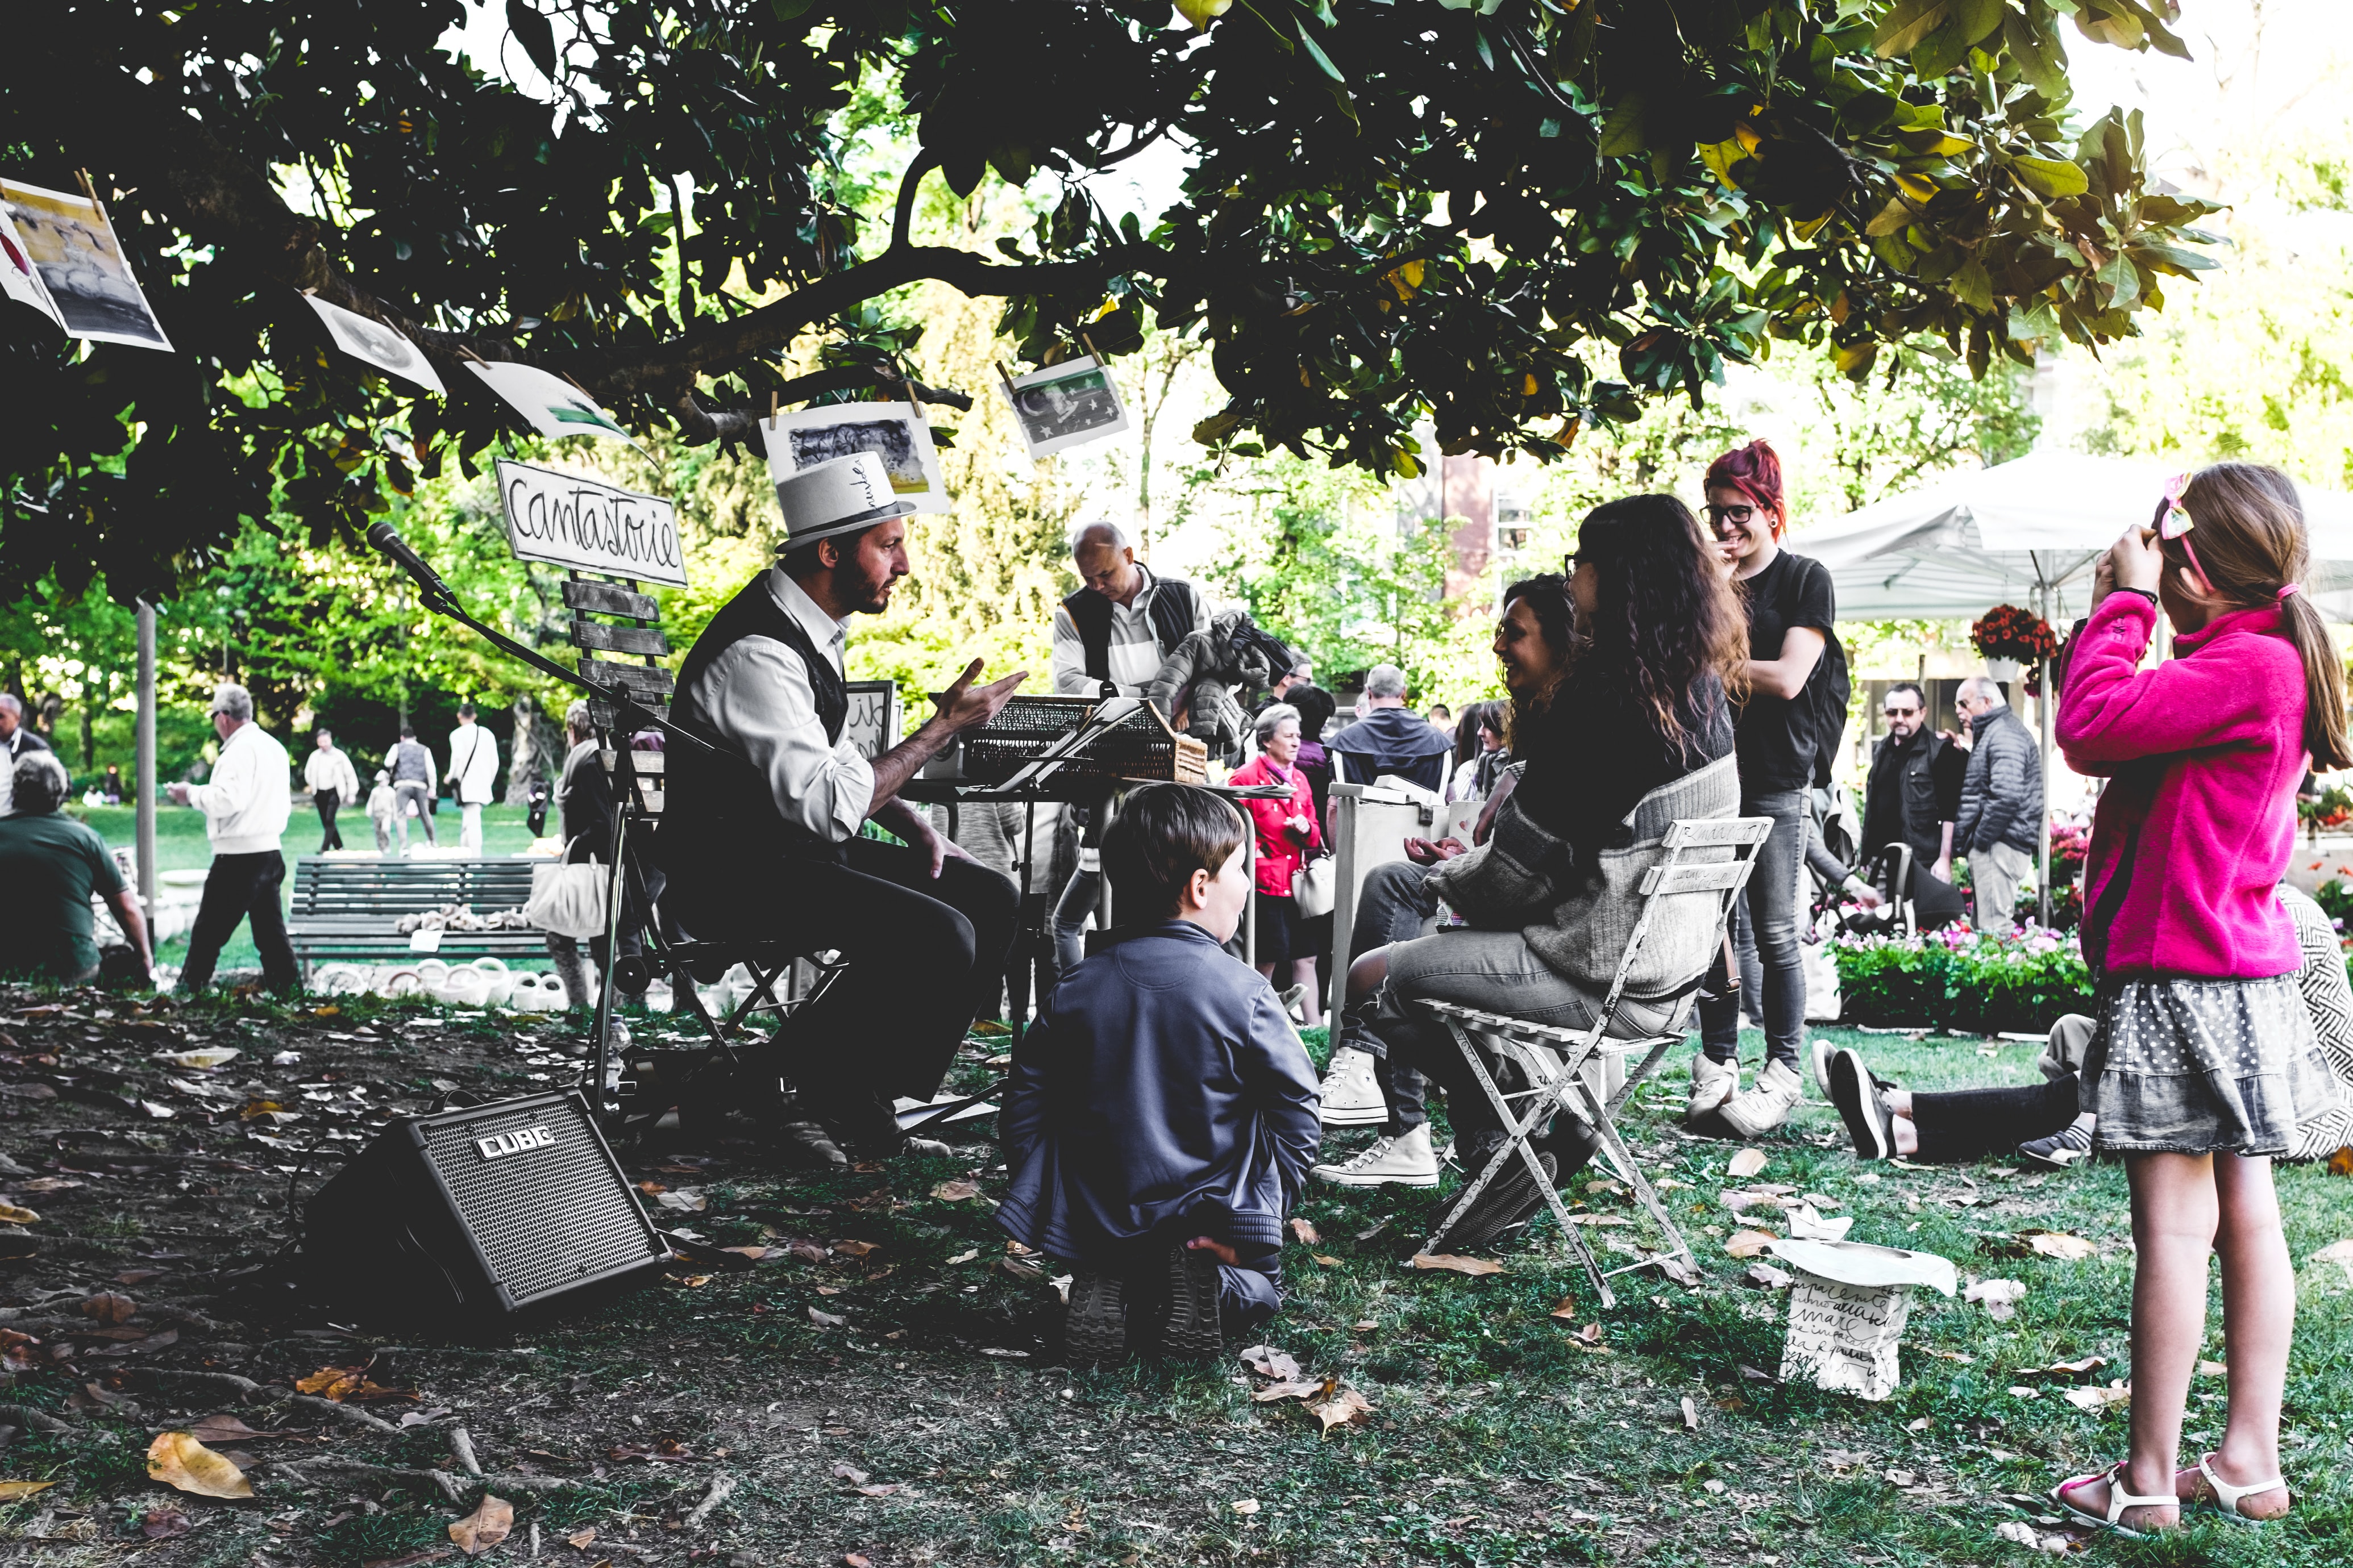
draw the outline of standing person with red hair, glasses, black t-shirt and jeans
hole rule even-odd
[[[1798,1046],[1805,1037],[1805,961],[1798,952],[1798,867],[1805,858],[1805,792],[1821,750],[1817,684],[1838,602],[1821,562],[1781,548],[1788,510],[1781,458],[1748,442],[1708,465],[1708,524],[1725,567],[1748,607],[1748,698],[1734,724],[1741,769],[1741,816],[1769,816],[1772,837],[1741,893],[1732,940],[1751,973],[1762,966],[1765,994],[1748,1013],[1765,1025],[1765,1067],[1739,1086],[1741,992],[1729,976],[1708,978],[1699,1001],[1701,1056],[1692,1060],[1692,1121],[1713,1117],[1741,1138],[1788,1121],[1805,1093]]]

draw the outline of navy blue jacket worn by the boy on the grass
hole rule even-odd
[[[998,1121],[998,1225],[1082,1267],[1209,1237],[1266,1269],[1322,1135],[1315,1067],[1273,987],[1184,919],[1054,987]]]

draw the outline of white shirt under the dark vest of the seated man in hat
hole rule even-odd
[[[842,675],[845,621],[816,607],[800,583],[769,567],[767,592],[800,623],[819,658]],[[706,722],[767,778],[776,811],[821,844],[854,839],[875,797],[875,771],[847,733],[826,743],[816,691],[800,654],[774,637],[741,637],[711,661],[689,691]]]

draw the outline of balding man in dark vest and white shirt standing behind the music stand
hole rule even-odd
[[[1120,696],[1144,696],[1176,644],[1209,630],[1209,604],[1200,592],[1181,578],[1155,576],[1115,522],[1089,522],[1073,534],[1071,564],[1080,588],[1054,609],[1056,696],[1096,696],[1104,682]],[[1071,818],[1082,832],[1078,870],[1054,903],[1054,964],[1061,973],[1078,966],[1087,914],[1104,891],[1096,856],[1101,827],[1089,820],[1087,806],[1073,806]]]

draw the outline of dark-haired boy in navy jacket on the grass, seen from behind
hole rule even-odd
[[[1104,835],[1120,940],[1014,1051],[998,1225],[1073,1267],[1073,1361],[1212,1356],[1282,1305],[1282,1220],[1320,1124],[1282,1001],[1224,950],[1247,832],[1207,790],[1129,795]]]

